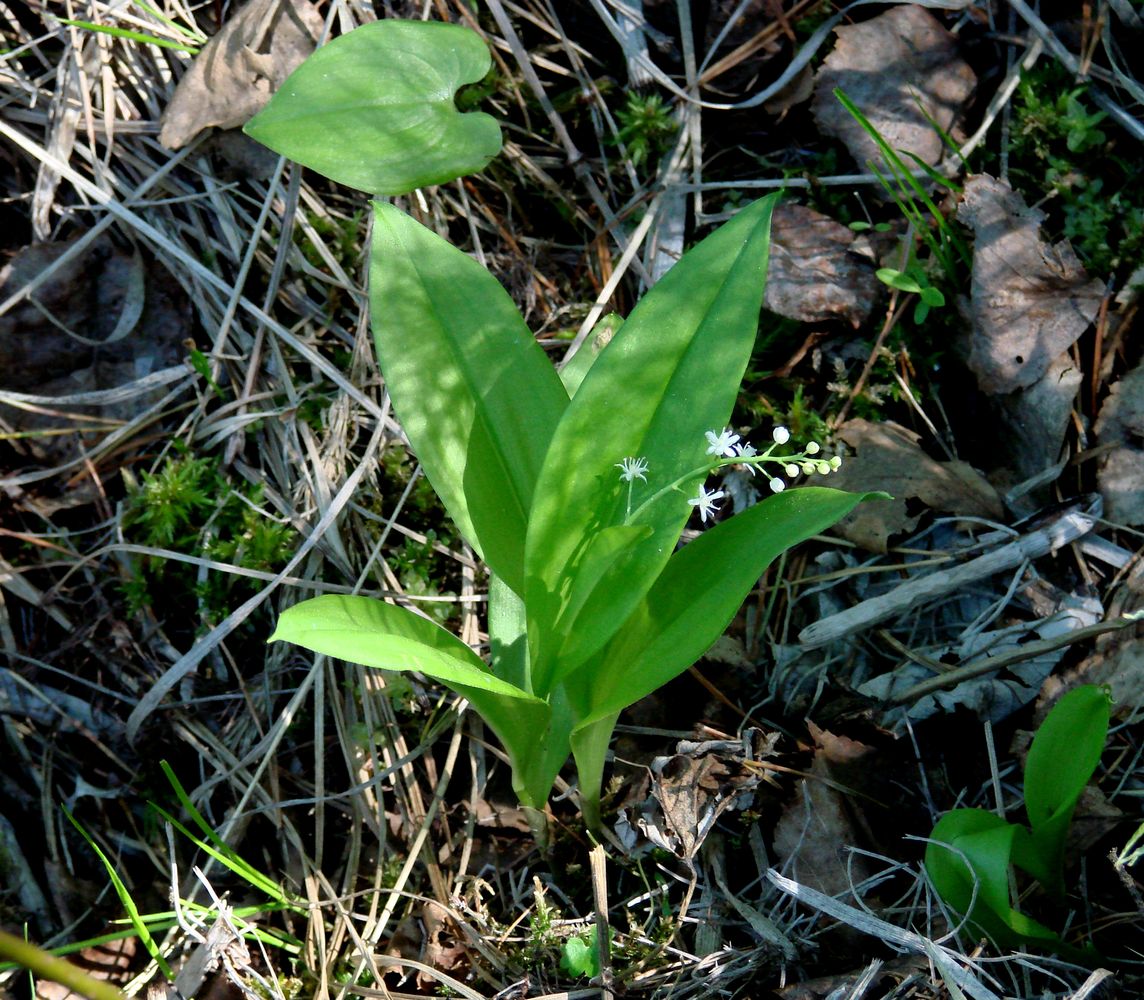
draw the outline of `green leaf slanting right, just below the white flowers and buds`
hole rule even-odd
[[[683,673],[723,634],[772,559],[880,495],[820,486],[777,493],[675,553],[602,660],[589,665],[593,711],[582,724],[620,712]],[[580,673],[569,683],[581,683]]]

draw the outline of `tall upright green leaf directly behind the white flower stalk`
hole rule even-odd
[[[593,595],[569,617],[588,539],[625,519],[627,491],[615,463],[645,458],[649,484],[672,483],[705,463],[704,430],[722,428],[731,414],[758,325],[773,205],[773,197],[757,201],[684,255],[591,365],[561,420],[526,542],[538,692],[607,641],[672,554],[691,509],[681,491],[635,515],[651,534],[601,578],[606,598]],[[693,491],[698,479],[683,490]],[[638,510],[654,487],[636,485]]]

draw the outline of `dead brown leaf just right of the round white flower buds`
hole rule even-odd
[[[921,515],[909,513],[909,500],[943,514],[1000,518],[1004,513],[996,491],[972,466],[931,459],[917,445],[919,436],[898,423],[848,420],[839,436],[857,454],[842,463],[831,485],[893,497],[864,503],[839,522],[835,530],[865,549],[884,553],[891,535],[914,529]]]

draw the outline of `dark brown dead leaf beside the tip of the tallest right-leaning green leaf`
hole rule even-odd
[[[844,319],[856,330],[874,311],[875,264],[855,252],[855,233],[802,205],[779,205],[771,223],[766,308],[803,323]]]

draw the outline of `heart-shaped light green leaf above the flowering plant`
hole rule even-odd
[[[244,130],[339,183],[404,195],[500,152],[495,119],[453,103],[490,65],[488,47],[461,25],[376,21],[318,49]]]

